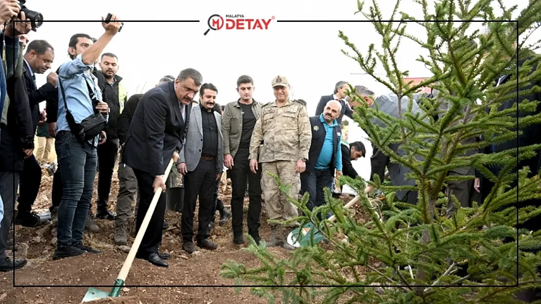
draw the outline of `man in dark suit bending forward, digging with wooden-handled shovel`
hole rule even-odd
[[[137,231],[154,193],[160,187],[163,191],[166,188],[163,174],[170,159],[174,154],[178,157],[178,152],[182,150],[192,100],[202,83],[203,77],[199,71],[182,70],[174,82],[150,89],[139,100],[122,152],[123,162],[134,171],[140,193]],[[177,161],[177,167],[179,164]],[[165,195],[160,195],[136,255],[161,267],[168,267],[163,259],[169,258],[169,255],[158,252],[165,211]]]

